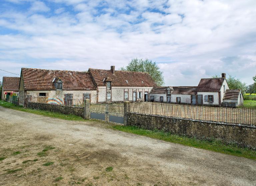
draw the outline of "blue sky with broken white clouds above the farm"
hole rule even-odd
[[[255,0],[0,0],[0,69],[119,69],[147,58],[166,86],[221,73],[249,85],[255,18]]]

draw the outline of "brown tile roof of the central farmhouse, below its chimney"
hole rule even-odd
[[[104,79],[112,80],[112,86],[121,87],[154,87],[156,86],[154,80],[148,73],[143,72],[129,72],[129,71],[115,71],[112,74],[111,70],[89,69],[97,86],[104,86]],[[126,82],[128,81],[128,83]]]

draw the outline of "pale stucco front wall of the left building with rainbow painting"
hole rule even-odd
[[[82,99],[83,93],[90,93],[91,94],[91,103],[96,103],[97,101],[97,91],[90,91],[90,90],[82,90],[82,91],[27,91],[28,95],[32,95],[34,97],[39,97],[39,93],[46,93],[46,97],[52,98],[59,98],[64,100],[64,94],[72,93],[73,99]]]

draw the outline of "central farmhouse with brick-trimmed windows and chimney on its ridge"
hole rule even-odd
[[[148,94],[156,86],[148,73],[89,69],[97,87],[97,102],[148,101]]]

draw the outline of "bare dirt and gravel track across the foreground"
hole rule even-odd
[[[0,158],[6,157],[0,160],[0,185],[256,185],[254,160],[114,131],[107,125],[0,107]],[[55,149],[38,156],[47,145]],[[13,154],[16,151],[20,154]],[[53,164],[43,166],[46,162]]]

